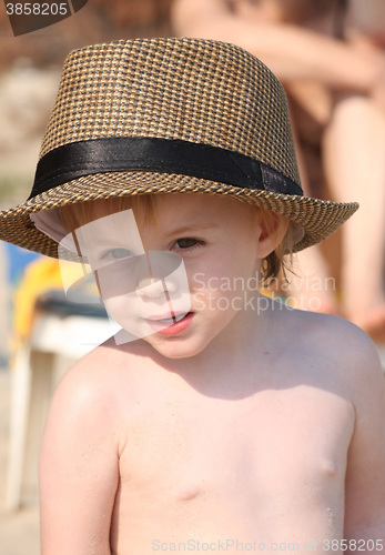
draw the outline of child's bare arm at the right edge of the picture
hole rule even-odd
[[[352,351],[356,420],[347,461],[345,538],[357,542],[348,552],[385,553],[385,379],[368,339],[357,336],[346,347]]]

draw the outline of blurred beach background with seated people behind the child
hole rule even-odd
[[[384,0],[89,0],[19,37],[1,3],[0,209],[29,195],[68,52],[155,36],[237,43],[281,79],[306,194],[362,208],[343,232],[298,258],[305,280],[290,287],[282,280],[275,293],[352,320],[384,353]],[[103,334],[105,315],[65,303],[55,262],[6,243],[0,280],[0,555],[37,555],[41,427],[57,381],[82,354],[63,344],[84,319]]]

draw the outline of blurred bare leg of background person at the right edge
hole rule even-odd
[[[345,312],[373,336],[385,339],[385,114],[371,99],[341,99],[323,147],[336,200],[361,205],[343,229]]]

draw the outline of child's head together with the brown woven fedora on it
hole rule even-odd
[[[0,215],[0,239],[85,254],[123,330],[188,356],[221,330],[231,342],[251,329],[259,273],[273,278],[283,252],[356,209],[303,195],[285,93],[255,57],[210,40],[122,40],[67,59],[31,195]]]

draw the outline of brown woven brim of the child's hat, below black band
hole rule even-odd
[[[39,231],[30,214],[42,210],[113,196],[192,193],[221,195],[255,204],[282,214],[303,228],[303,238],[294,245],[298,252],[334,233],[358,209],[342,203],[235,188],[190,175],[156,172],[107,172],[84,175],[50,189],[23,204],[0,213],[0,239],[24,249],[58,258],[58,243]]]

